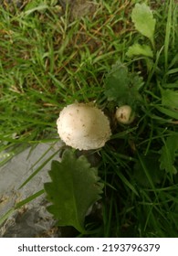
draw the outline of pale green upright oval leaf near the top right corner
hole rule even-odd
[[[153,42],[156,20],[152,16],[152,10],[146,4],[136,4],[131,13],[131,19],[136,29]]]

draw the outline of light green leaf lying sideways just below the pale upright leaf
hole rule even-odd
[[[134,44],[128,49],[126,55],[130,58],[140,55],[152,58],[153,52],[147,45]]]

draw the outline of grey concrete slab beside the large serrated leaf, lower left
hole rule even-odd
[[[59,160],[58,149],[62,143],[37,144],[27,148],[24,152],[16,155],[5,165],[0,167],[0,216],[3,216],[16,202],[35,194],[43,189],[45,182],[50,180],[47,171],[50,169],[52,160]],[[47,165],[34,176],[26,186],[19,187],[32,175],[37,168],[54,155]],[[25,207],[17,210],[0,227],[0,237],[55,237],[58,236],[55,220],[47,212],[47,200],[45,195],[37,197]]]

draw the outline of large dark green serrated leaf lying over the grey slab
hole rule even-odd
[[[59,226],[73,226],[83,232],[86,213],[102,193],[97,169],[90,167],[85,156],[76,158],[68,150],[61,162],[52,161],[49,176],[52,181],[44,187],[52,204],[47,210],[58,219]]]

